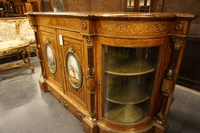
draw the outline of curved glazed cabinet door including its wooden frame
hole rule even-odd
[[[119,128],[150,123],[161,83],[158,77],[163,73],[163,50],[167,46],[164,41],[99,38],[100,121]]]

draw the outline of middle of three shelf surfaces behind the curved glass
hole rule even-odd
[[[117,104],[138,104],[149,99],[144,88],[130,84],[118,85],[109,89],[105,99]]]

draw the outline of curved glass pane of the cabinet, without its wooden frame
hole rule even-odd
[[[148,116],[159,47],[104,45],[103,117],[134,123]]]

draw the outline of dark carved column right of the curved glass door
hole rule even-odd
[[[185,42],[185,37],[172,36],[171,40],[172,40],[172,45],[173,45],[172,54],[170,57],[169,66],[167,70],[165,71],[165,77],[162,82],[162,87],[161,87],[162,102],[161,102],[160,111],[158,112],[155,118],[155,122],[159,124],[160,127],[163,128],[163,130],[168,128],[168,124],[166,121],[166,115],[167,115],[166,106],[167,106],[168,98],[171,95],[172,90],[174,88],[175,77],[176,77],[175,70],[176,70],[177,61],[179,58],[180,49],[183,46],[183,43]]]

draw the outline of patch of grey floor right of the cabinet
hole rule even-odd
[[[168,133],[200,133],[200,92],[176,85]]]

